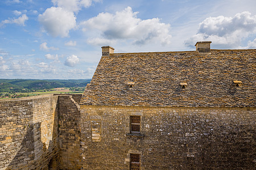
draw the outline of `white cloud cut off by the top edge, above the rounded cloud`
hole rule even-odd
[[[92,0],[52,0],[52,2],[54,5],[72,12],[78,12],[82,7],[89,7],[92,5]]]

